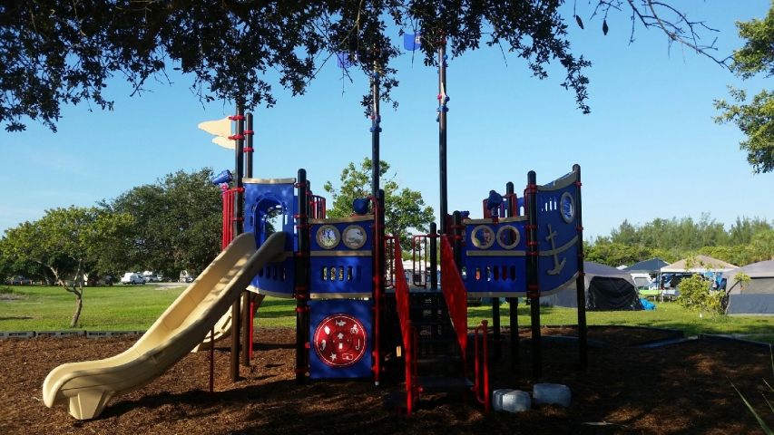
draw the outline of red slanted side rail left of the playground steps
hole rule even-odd
[[[395,240],[395,249],[393,251],[396,258],[401,257],[400,242]],[[405,276],[403,263],[395,262],[396,274],[398,277]],[[406,358],[406,411],[411,415],[416,396],[418,395],[418,385],[416,377],[416,341],[418,333],[416,327],[411,323],[410,306],[408,300],[408,283],[405,278],[397,279],[395,282],[395,299],[397,302],[397,317],[400,320],[400,332],[403,335],[403,350]]]

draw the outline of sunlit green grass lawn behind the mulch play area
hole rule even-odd
[[[5,286],[13,293],[0,294],[0,331],[56,331],[69,329],[75,298],[61,287]],[[78,329],[90,331],[143,331],[148,329],[181,294],[184,286],[113,285],[86,287],[83,312]],[[5,290],[7,292],[7,290]],[[267,297],[256,315],[256,327],[295,327],[296,302],[293,299]],[[591,312],[587,324],[653,326],[680,329],[686,335],[698,333],[763,334],[750,340],[774,343],[772,317],[738,317],[704,314],[701,318],[674,302],[656,303],[652,311]],[[529,325],[530,307],[519,304],[519,325]],[[510,306],[500,307],[501,325],[510,325]],[[481,320],[492,324],[492,306],[468,307],[468,325]],[[541,324],[577,324],[573,309],[541,307]]]

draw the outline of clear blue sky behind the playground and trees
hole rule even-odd
[[[513,53],[504,60],[497,49],[450,59],[449,210],[480,217],[490,189],[504,192],[513,181],[521,192],[527,171],[535,170],[544,183],[578,163],[586,238],[608,235],[624,219],[644,224],[710,212],[730,227],[737,216],[774,218],[774,202],[761,200],[774,190],[774,175],[753,175],[739,150],[740,131],[711,119],[717,114],[712,100],[727,97],[728,84],[753,93],[770,82],[740,82],[688,49],[670,51],[655,29],[638,26],[630,44],[628,14],[612,14],[604,36],[602,22],[591,21],[581,6],[585,30],[568,24],[573,53],[593,63],[585,72],[590,115],[578,111],[573,92],[559,85],[558,65],[540,81],[523,60]],[[742,44],[734,21],[762,18],[770,3],[691,0],[678,6],[720,30],[704,34],[708,42],[717,35],[722,58]],[[382,104],[382,160],[437,212],[436,69],[418,57],[412,65],[411,53],[395,66],[400,86],[393,95],[400,105],[393,111]],[[342,81],[331,60],[304,96],[290,98],[275,82],[277,106],[253,111],[256,177],[295,177],[304,168],[312,189],[322,194],[323,183],[338,183],[348,162],[370,157],[370,121],[359,104],[367,78],[353,77],[355,82]],[[34,121],[23,133],[0,132],[0,231],[41,218],[47,208],[92,206],[179,169],[233,169],[232,151],[197,129],[202,121],[232,114],[233,105],[202,106],[189,89],[191,77],[171,79],[172,86],[151,83],[151,92],[129,98],[131,90],[116,78],[106,91],[114,111],[65,106],[57,133]]]

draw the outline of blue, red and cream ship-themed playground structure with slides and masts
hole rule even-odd
[[[379,385],[389,360],[404,367],[406,383],[403,391],[383,396],[385,406],[410,414],[421,393],[473,392],[488,411],[488,346],[498,358],[500,297],[511,303],[512,331],[517,298],[531,301],[533,375],[539,378],[539,298],[583,280],[581,170],[575,165],[543,186],[531,171],[523,197],[514,193],[513,183],[505,196],[491,191],[483,201],[483,218],[448,214],[443,45],[438,65],[440,231],[432,224],[430,234],[415,237],[412,247],[421,265],[429,257],[429,283],[407,283],[397,235],[385,234],[378,73],[371,78],[372,195],[356,201],[349,218],[326,218],[325,199],[312,195],[304,169],[296,178],[253,178],[252,116],[238,107],[235,116],[223,120],[229,127],[221,129],[231,131],[235,122],[235,134],[228,135],[235,177],[224,171],[213,180],[223,190],[223,252],[131,349],[54,369],[44,382],[45,404],[66,403],[74,418],[96,418],[112,397],[141,388],[185,353],[212,349],[214,341],[225,338],[231,340],[230,374],[237,381],[240,363],[250,365],[255,303],[266,295],[296,300],[298,382],[361,378]],[[279,227],[269,234],[267,224],[275,217]],[[577,288],[582,301],[583,285]],[[470,297],[494,301],[491,340],[486,321],[475,326],[472,382],[467,372]],[[581,366],[587,359],[584,306],[578,304]],[[511,333],[511,340],[517,355],[518,334]]]

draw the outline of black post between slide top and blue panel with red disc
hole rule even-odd
[[[299,197],[299,218],[296,223],[299,234],[299,252],[296,253],[296,382],[303,383],[307,376],[309,349],[309,184],[307,171],[299,169],[296,184]]]

